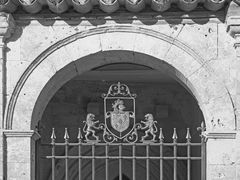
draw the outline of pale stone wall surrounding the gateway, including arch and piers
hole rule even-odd
[[[192,91],[207,125],[207,180],[240,178],[240,64],[225,22],[31,16],[15,17],[15,22],[1,57],[6,63],[1,104],[6,105],[2,120],[7,153],[0,158],[5,179],[35,178],[32,135],[55,92],[76,75],[115,62],[165,67]]]

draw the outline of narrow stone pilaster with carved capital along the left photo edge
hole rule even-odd
[[[4,177],[4,146],[3,146],[3,119],[6,107],[6,39],[8,39],[14,30],[14,20],[11,14],[0,12],[0,180]]]

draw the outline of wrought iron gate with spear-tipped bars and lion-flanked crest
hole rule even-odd
[[[123,180],[125,177],[123,172],[123,162],[131,161],[131,177],[129,179],[136,180],[138,173],[136,162],[141,160],[145,163],[145,177],[144,179],[150,180],[150,162],[157,161],[159,166],[159,173],[157,179],[166,180],[164,177],[164,163],[166,161],[172,162],[173,180],[178,179],[178,164],[184,162],[186,165],[186,179],[191,179],[191,163],[199,161],[201,163],[201,180],[205,180],[205,136],[204,136],[204,123],[198,128],[200,131],[200,141],[191,142],[190,129],[186,129],[185,142],[178,142],[177,129],[173,128],[172,141],[165,142],[165,137],[162,128],[157,127],[157,121],[154,120],[152,114],[146,114],[145,120],[135,122],[135,94],[131,94],[128,86],[124,84],[113,84],[110,86],[107,94],[103,94],[104,98],[104,123],[95,120],[95,115],[89,113],[86,121],[84,121],[84,128],[78,129],[78,142],[70,142],[68,129],[65,128],[64,142],[56,142],[55,130],[53,128],[51,135],[51,155],[46,156],[51,160],[52,164],[52,180],[56,180],[55,168],[56,161],[65,161],[65,180],[69,180],[69,161],[76,160],[78,162],[78,180],[83,180],[82,177],[82,163],[84,160],[91,162],[91,179],[97,180],[96,177],[96,161],[103,160],[105,168],[105,179],[109,179],[111,160],[118,163],[118,179]],[[82,133],[83,131],[83,133]],[[65,154],[56,155],[56,148],[62,147],[65,149]],[[77,155],[69,153],[69,149],[77,148]],[[90,153],[86,153],[83,149],[88,148]],[[103,154],[97,152],[98,147],[104,149]],[[112,154],[111,147],[117,148],[117,153]],[[123,149],[127,147],[130,153],[124,154]],[[144,153],[139,154],[137,148],[144,149]],[[198,156],[191,154],[191,149],[198,147],[200,153]],[[156,148],[158,153],[151,155],[152,148]],[[171,149],[172,154],[166,155],[165,148]],[[178,155],[178,149],[186,148],[185,155]],[[156,178],[156,177],[155,177]],[[85,179],[84,179],[85,180]]]

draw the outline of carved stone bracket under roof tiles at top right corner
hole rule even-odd
[[[237,56],[240,57],[240,6],[238,1],[232,1],[229,5],[226,23],[227,32],[236,40],[234,47],[237,52]]]

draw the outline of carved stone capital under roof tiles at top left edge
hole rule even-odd
[[[15,22],[11,14],[0,12],[0,37],[3,40],[9,38],[15,28]]]

